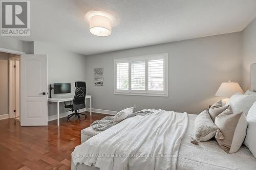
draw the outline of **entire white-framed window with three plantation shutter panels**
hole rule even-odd
[[[115,94],[168,96],[168,54],[115,59]]]

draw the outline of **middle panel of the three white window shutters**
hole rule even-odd
[[[145,90],[145,61],[131,62],[131,89]]]

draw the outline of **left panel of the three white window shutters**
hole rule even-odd
[[[116,89],[129,90],[129,62],[116,64]]]

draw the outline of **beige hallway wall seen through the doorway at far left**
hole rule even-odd
[[[7,53],[0,52],[0,115],[9,114],[9,60]]]

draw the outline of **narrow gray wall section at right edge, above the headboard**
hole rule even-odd
[[[250,88],[250,65],[256,63],[256,18],[243,30],[243,89]]]

